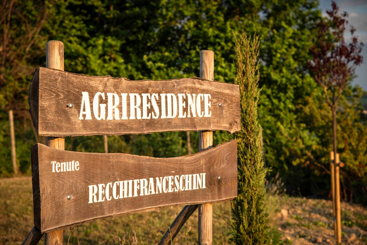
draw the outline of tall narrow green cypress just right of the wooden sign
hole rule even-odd
[[[266,244],[268,242],[268,214],[265,210],[266,190],[261,127],[258,123],[257,103],[259,70],[259,39],[246,33],[235,36],[235,83],[240,86],[241,131],[237,139],[238,186],[237,197],[231,202],[235,244]]]

